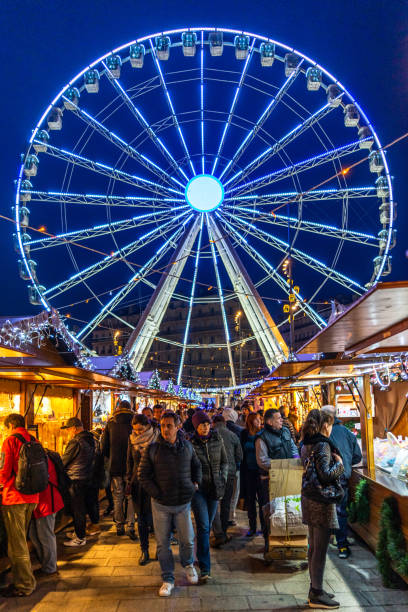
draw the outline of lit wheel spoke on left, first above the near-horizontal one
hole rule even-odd
[[[39,141],[34,140],[34,142]],[[134,187],[139,187],[139,189],[153,191],[158,194],[164,194],[165,196],[168,196],[169,193],[183,195],[183,192],[179,189],[173,189],[172,187],[159,185],[159,183],[155,183],[154,181],[149,181],[148,179],[142,178],[140,176],[128,174],[127,172],[123,172],[123,170],[117,170],[116,168],[112,168],[111,166],[108,166],[101,162],[88,159],[87,157],[77,155],[77,153],[73,153],[72,151],[66,151],[65,149],[60,149],[50,144],[47,144],[47,150],[45,151],[45,154],[50,155],[51,157],[62,159],[63,161],[69,162],[70,164],[81,166],[82,168],[86,168],[87,170],[91,170],[92,172],[103,174],[104,176],[108,176],[111,179],[115,179],[123,183],[128,183],[130,185],[133,185]]]

